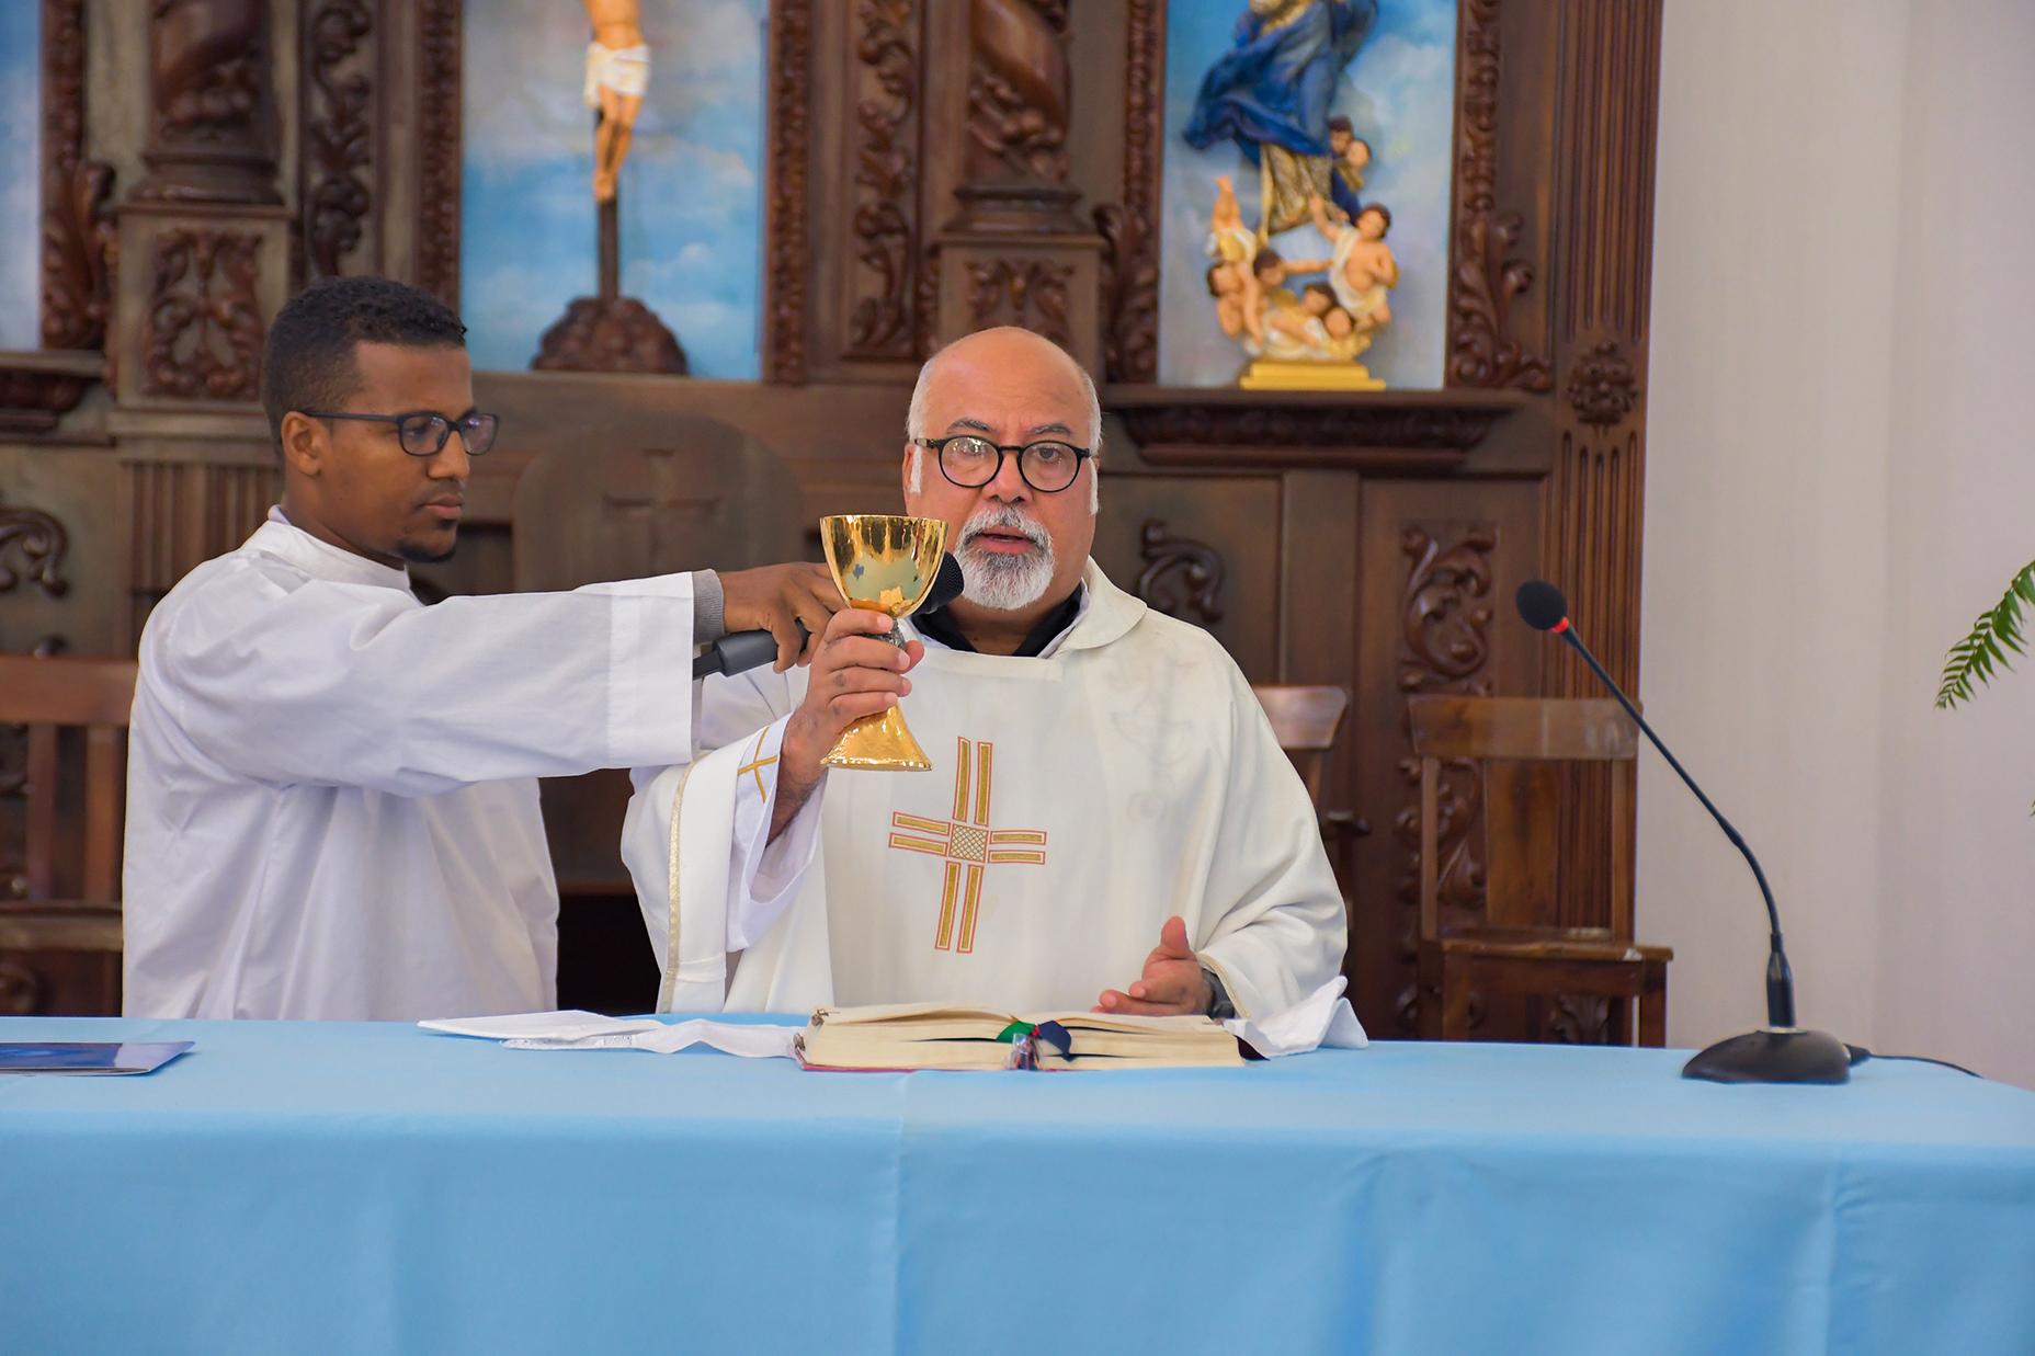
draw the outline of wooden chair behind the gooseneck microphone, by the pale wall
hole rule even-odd
[[[1604,998],[1612,1042],[1632,1044],[1636,1036],[1638,1044],[1665,1044],[1667,965],[1675,953],[1632,941],[1640,741],[1632,719],[1610,700],[1412,696],[1406,707],[1420,755],[1420,1036],[1467,1040],[1475,992],[1543,1004]],[[1486,914],[1477,928],[1451,928],[1441,916],[1443,759],[1484,764]],[[1551,926],[1563,761],[1612,764],[1610,926]]]

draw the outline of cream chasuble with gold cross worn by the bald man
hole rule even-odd
[[[639,772],[623,831],[661,1010],[1089,1008],[1140,977],[1172,914],[1243,1016],[1337,973],[1343,900],[1243,674],[1093,560],[1085,582],[1040,658],[928,645],[904,715],[934,770],[830,770],[751,890],[731,873],[753,869],[775,792],[761,759],[806,674],[702,684],[698,737],[724,747]]]

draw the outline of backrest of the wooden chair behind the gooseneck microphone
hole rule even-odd
[[[1614,700],[1412,696],[1420,757],[1420,937],[1443,930],[1441,786],[1447,759],[1484,768],[1484,922],[1504,933],[1632,941],[1632,796],[1640,731]],[[1561,928],[1563,764],[1612,764],[1612,898],[1608,928]]]

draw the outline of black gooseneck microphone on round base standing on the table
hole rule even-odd
[[[1646,717],[1638,713],[1638,707],[1632,704],[1618,684],[1612,682],[1612,676],[1604,672],[1604,666],[1597,664],[1597,656],[1589,654],[1583,641],[1577,639],[1575,627],[1569,623],[1569,601],[1561,597],[1561,588],[1555,588],[1547,580],[1528,580],[1520,584],[1514,601],[1526,625],[1534,631],[1559,635],[1569,641],[1575,654],[1583,656],[1583,664],[1597,676],[1597,682],[1610,688],[1618,704],[1626,709],[1626,715],[1632,717],[1652,747],[1661,751],[1661,757],[1675,770],[1675,776],[1683,780],[1683,786],[1695,792],[1695,798],[1703,802],[1709,816],[1718,821],[1732,847],[1744,853],[1746,865],[1752,867],[1752,880],[1760,884],[1760,896],[1766,900],[1766,922],[1772,945],[1766,957],[1766,1026],[1699,1051],[1683,1065],[1681,1075],[1713,1083],[1848,1083],[1852,1077],[1850,1049],[1827,1032],[1795,1026],[1795,973],[1789,969],[1787,951],[1781,947],[1781,910],[1775,908],[1775,892],[1766,884],[1760,859],[1752,855],[1752,849],[1740,837],[1738,829],[1732,827],[1732,821],[1724,818],[1718,806],[1709,802],[1709,796],[1695,784],[1689,770],[1667,751],[1667,745],[1661,743],[1661,735],[1652,733]]]

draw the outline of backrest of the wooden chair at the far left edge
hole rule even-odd
[[[122,743],[134,709],[132,660],[0,656],[0,723],[28,727],[24,888],[31,904],[57,886],[57,731],[85,731],[83,871],[77,902],[120,898]],[[0,939],[0,945],[8,945]]]

